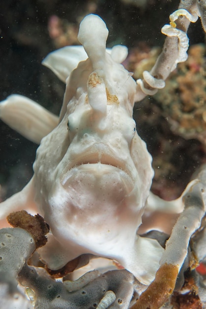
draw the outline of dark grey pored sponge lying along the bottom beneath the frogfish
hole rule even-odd
[[[110,270],[85,286],[81,285],[78,290],[68,291],[62,282],[53,280],[46,273],[38,274],[36,270],[25,264],[19,273],[20,283],[35,293],[35,309],[128,309],[131,300],[135,302],[139,292],[146,288],[129,271]],[[112,291],[115,299],[108,306],[99,307],[107,291]]]

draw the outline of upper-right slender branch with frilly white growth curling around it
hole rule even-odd
[[[144,71],[143,80],[137,79],[136,101],[142,100],[145,95],[154,95],[158,89],[163,88],[164,80],[176,68],[177,63],[187,60],[189,39],[186,32],[189,22],[195,23],[198,16],[200,16],[203,27],[206,29],[206,1],[200,1],[197,5],[195,1],[181,4],[185,5],[188,10],[191,8],[192,14],[187,9],[180,8],[170,15],[170,24],[163,26],[161,30],[161,32],[168,37],[165,41],[162,53],[158,57],[150,73]],[[183,21],[178,20],[181,16],[185,17]],[[177,25],[175,23],[176,20]],[[175,41],[174,38],[178,39],[178,45],[176,45],[177,40]]]

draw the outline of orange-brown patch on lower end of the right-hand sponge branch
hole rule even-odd
[[[154,281],[140,295],[131,309],[159,309],[172,294],[177,275],[177,266],[172,264],[162,265],[157,270]]]

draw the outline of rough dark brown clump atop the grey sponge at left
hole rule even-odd
[[[34,238],[36,249],[46,244],[45,235],[49,232],[49,225],[39,214],[32,216],[25,210],[16,211],[7,216],[7,221],[14,228],[29,232]]]

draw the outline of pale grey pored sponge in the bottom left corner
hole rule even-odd
[[[27,231],[0,230],[0,309],[32,308],[17,287],[17,275],[34,250],[34,239]]]

